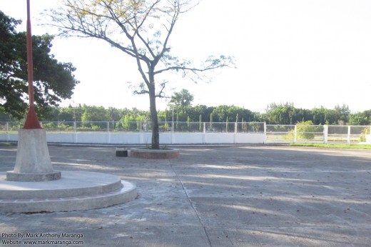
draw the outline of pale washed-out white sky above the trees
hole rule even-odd
[[[57,2],[31,0],[32,34],[54,34],[38,26],[38,18]],[[26,29],[26,0],[0,0],[0,9],[24,21],[19,31]],[[53,44],[52,54],[76,66],[81,81],[62,106],[149,109],[148,96],[133,96],[128,89],[126,82],[140,76],[121,51],[93,39],[56,38]],[[370,0],[202,0],[178,21],[170,44],[193,61],[235,56],[237,69],[215,71],[208,84],[169,76],[169,93],[188,89],[193,105],[235,105],[262,113],[273,102],[371,109]],[[166,105],[158,101],[158,109]]]

